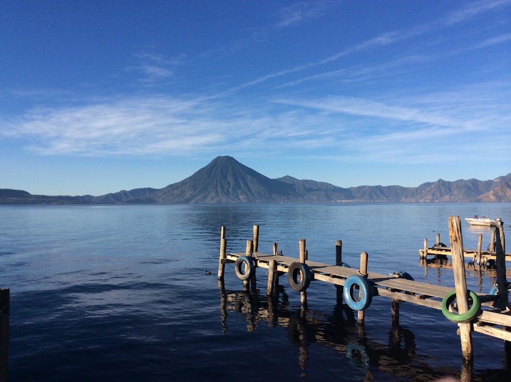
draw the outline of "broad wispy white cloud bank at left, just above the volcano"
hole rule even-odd
[[[320,119],[301,113],[262,114],[212,100],[125,98],[36,108],[3,123],[0,136],[24,139],[30,142],[27,149],[43,155],[188,155],[220,145],[263,149],[275,139],[283,147],[290,141],[293,146],[320,142],[324,135],[314,128]]]

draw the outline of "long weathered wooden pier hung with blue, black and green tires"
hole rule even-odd
[[[455,289],[414,281],[406,272],[383,275],[367,271],[368,254],[360,255],[358,269],[342,262],[342,241],[335,246],[335,265],[308,259],[306,239],[299,239],[299,257],[282,256],[273,243],[273,253],[258,252],[259,226],[253,227],[252,240],[247,240],[245,252],[226,252],[225,227],[221,229],[218,279],[223,280],[225,264],[234,263],[238,278],[244,289],[255,290],[257,268],[268,269],[267,295],[275,294],[281,276],[287,274],[290,287],[300,293],[300,302],[305,316],[307,309],[307,287],[310,282],[323,281],[337,287],[337,303],[343,301],[357,310],[359,326],[364,324],[364,310],[369,308],[374,297],[391,299],[393,324],[399,323],[401,301],[442,310],[444,316],[458,324],[462,356],[465,362],[473,362],[472,331],[484,333],[506,342],[511,342],[511,310],[508,301],[508,282],[505,269],[505,239],[502,226],[496,228],[495,258],[497,268],[497,294],[475,293],[467,290],[463,242],[459,216],[449,218],[450,247]],[[427,252],[426,252],[427,253]]]

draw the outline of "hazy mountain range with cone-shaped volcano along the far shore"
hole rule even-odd
[[[0,204],[374,203],[511,201],[511,173],[492,181],[442,179],[419,187],[342,188],[286,175],[270,179],[231,156],[218,156],[181,182],[101,196],[32,195],[0,189]]]

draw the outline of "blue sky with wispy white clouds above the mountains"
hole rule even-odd
[[[511,172],[511,0],[2,1],[0,188]]]

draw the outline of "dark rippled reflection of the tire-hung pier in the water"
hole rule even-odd
[[[298,347],[297,365],[301,376],[307,376],[307,362],[311,344],[322,344],[346,357],[352,371],[362,373],[365,380],[380,377],[421,377],[417,380],[435,380],[445,375],[455,375],[470,381],[470,365],[455,368],[434,369],[434,357],[419,354],[415,335],[405,326],[393,325],[388,332],[388,343],[373,340],[366,334],[364,326],[358,325],[355,312],[347,305],[335,305],[331,314],[316,312],[303,307],[291,306],[284,287],[278,288],[278,295],[260,295],[249,291],[225,290],[219,281],[221,325],[224,333],[227,312],[245,315],[247,332],[253,332],[260,323],[269,327],[287,328],[288,340]],[[305,314],[304,314],[305,313]],[[390,323],[389,323],[390,324]],[[376,374],[376,375],[375,375]],[[357,374],[359,375],[359,374]],[[478,379],[479,380],[479,379]]]

